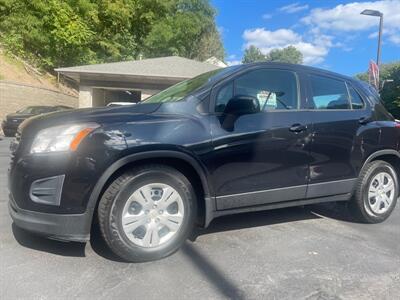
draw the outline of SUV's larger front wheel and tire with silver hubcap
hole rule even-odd
[[[173,190],[175,193],[167,198]],[[163,203],[169,206],[163,207]],[[165,209],[163,213],[157,205]],[[172,206],[177,212],[171,211]],[[183,174],[163,165],[147,165],[122,174],[105,190],[98,207],[104,240],[116,255],[129,262],[157,260],[177,251],[191,234],[196,215],[192,185]],[[177,225],[170,216],[178,220]],[[129,223],[129,218],[135,221]]]

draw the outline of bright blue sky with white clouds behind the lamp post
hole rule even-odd
[[[254,45],[268,53],[295,46],[304,63],[354,75],[376,60],[379,17],[384,14],[381,61],[400,60],[400,0],[212,0],[226,61],[240,63],[244,49]]]

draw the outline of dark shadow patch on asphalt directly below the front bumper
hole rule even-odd
[[[85,256],[85,244],[77,242],[60,242],[33,234],[12,224],[12,232],[17,242],[26,248],[48,252],[61,256]]]

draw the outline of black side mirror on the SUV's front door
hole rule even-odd
[[[236,120],[243,115],[260,112],[260,102],[252,96],[237,95],[226,104],[221,116],[221,126],[227,131],[233,131]]]

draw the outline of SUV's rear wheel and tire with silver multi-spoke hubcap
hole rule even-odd
[[[380,188],[379,182],[380,178],[382,178],[381,174],[386,174],[383,180],[386,189],[389,187],[389,179],[393,181],[392,191],[385,193],[385,188]],[[375,186],[377,187],[375,188]],[[378,196],[375,197],[372,195]],[[391,164],[385,161],[376,160],[368,163],[361,170],[353,198],[349,203],[349,208],[354,217],[360,222],[381,223],[392,213],[396,206],[398,196],[399,183],[395,169]],[[391,201],[389,201],[390,198],[392,198]]]

